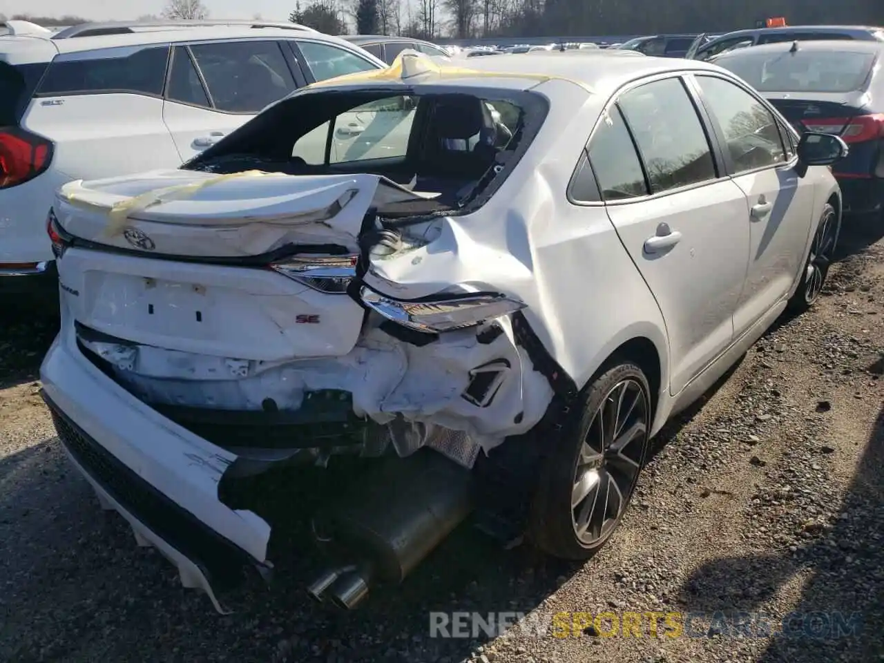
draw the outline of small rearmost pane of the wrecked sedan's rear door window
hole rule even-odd
[[[590,161],[606,201],[648,194],[642,164],[616,106],[602,116],[592,134]]]

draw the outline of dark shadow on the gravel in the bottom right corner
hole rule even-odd
[[[682,601],[697,612],[763,613],[760,606],[782,585],[809,572],[798,605],[781,623],[783,635],[774,637],[758,661],[880,660],[884,656],[882,514],[884,408],[836,517],[805,527],[805,543],[794,554],[716,560],[700,568],[682,588]],[[773,631],[779,630],[779,624],[767,622]]]

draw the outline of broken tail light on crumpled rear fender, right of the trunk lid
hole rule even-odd
[[[498,293],[477,293],[433,301],[400,301],[362,287],[363,303],[388,320],[427,333],[453,331],[482,324],[525,308],[521,301]]]

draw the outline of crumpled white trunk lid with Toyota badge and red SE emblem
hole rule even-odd
[[[249,362],[340,356],[362,326],[346,284],[363,219],[427,197],[368,174],[72,182],[54,208],[72,236],[57,261],[63,296],[91,331],[219,357],[218,379]]]

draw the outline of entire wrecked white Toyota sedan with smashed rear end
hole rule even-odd
[[[468,517],[588,557],[667,419],[819,296],[840,139],[697,61],[470,64],[407,52],[57,194],[58,437],[219,610],[272,568],[225,486],[342,455],[314,598],[356,606]]]

